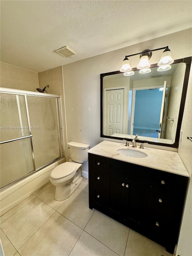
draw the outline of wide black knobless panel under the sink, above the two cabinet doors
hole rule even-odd
[[[149,168],[136,164],[112,160],[107,164],[107,171],[143,184],[149,184]]]

